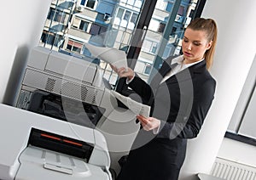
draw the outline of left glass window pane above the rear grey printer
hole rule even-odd
[[[114,86],[118,76],[93,58],[84,42],[127,52],[142,7],[143,0],[53,0],[40,45],[100,65],[103,77]],[[148,68],[144,71],[147,74]]]

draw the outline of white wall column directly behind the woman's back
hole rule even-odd
[[[202,17],[212,18],[218,24],[218,45],[212,66],[217,91],[199,137],[189,141],[181,180],[196,179],[195,174],[199,172],[210,173],[218,149],[221,149],[219,155],[223,158],[235,160],[235,155],[239,153],[243,162],[249,161],[245,153],[252,153],[252,149],[255,152],[255,147],[247,151],[244,148],[247,145],[243,143],[231,140],[223,142],[224,132],[256,53],[255,9],[255,0],[207,0]],[[230,151],[236,153],[229,155]]]

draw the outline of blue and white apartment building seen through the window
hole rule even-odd
[[[40,44],[57,51],[66,51],[71,55],[79,53],[84,56],[84,60],[88,59],[90,62],[92,57],[84,47],[84,42],[101,47],[118,48],[128,53],[137,22],[141,18],[143,3],[146,3],[144,0],[73,0],[73,3],[68,3],[68,7],[60,8],[61,3],[66,1],[57,2],[53,1],[49,8]],[[135,70],[139,70],[138,75],[143,76],[145,80],[150,75],[149,71],[154,65],[156,56],[166,58],[180,52],[183,30],[185,25],[189,24],[190,16],[194,14],[197,1],[182,0],[178,5],[172,27],[167,27],[172,8],[177,7],[174,6],[176,2],[174,0],[156,2],[147,33],[143,38],[137,65],[134,67]],[[70,6],[71,4],[73,6]],[[79,8],[81,6],[84,8]],[[171,28],[169,39],[163,39],[166,28]],[[163,53],[159,54],[162,42],[166,42],[166,46]],[[114,85],[117,75],[102,60],[99,65],[104,70],[103,76]]]

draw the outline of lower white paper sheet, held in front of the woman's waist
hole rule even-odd
[[[137,101],[129,97],[123,96],[122,94],[117,93],[113,90],[111,90],[111,93],[115,98],[119,99],[119,101],[125,104],[125,106],[127,106],[127,108],[129,108],[135,115],[143,115],[145,117],[149,117],[150,106],[138,103]]]

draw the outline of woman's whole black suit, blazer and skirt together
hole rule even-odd
[[[187,138],[200,132],[216,82],[203,60],[160,84],[171,62],[166,59],[150,85],[138,76],[129,83],[143,103],[151,105],[150,115],[161,121],[160,132],[138,132],[118,180],[177,180]]]

